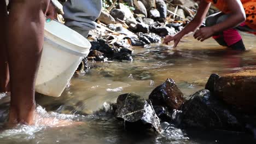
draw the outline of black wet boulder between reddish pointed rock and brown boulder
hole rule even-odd
[[[225,104],[202,89],[189,97],[182,105],[181,125],[207,129],[241,131],[242,125]]]

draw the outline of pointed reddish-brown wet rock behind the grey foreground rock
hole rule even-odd
[[[165,106],[168,110],[179,110],[184,101],[183,93],[172,79],[167,79],[162,85],[156,87],[149,95],[154,106]]]

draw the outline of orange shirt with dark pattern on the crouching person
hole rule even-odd
[[[205,0],[211,2],[216,8],[223,13],[230,13],[226,0]],[[241,0],[246,13],[246,25],[256,29],[256,0]]]

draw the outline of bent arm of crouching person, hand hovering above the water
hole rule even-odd
[[[246,20],[245,10],[240,0],[226,0],[230,11],[228,19],[211,27],[203,27],[194,34],[195,39],[203,41],[210,38],[214,33],[222,32],[225,29],[236,27]]]

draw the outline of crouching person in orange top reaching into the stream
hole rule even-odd
[[[199,2],[199,9],[194,19],[176,35],[167,35],[163,43],[167,44],[173,40],[176,47],[185,34],[196,30],[194,38],[199,41],[213,37],[222,46],[245,50],[241,35],[236,28],[255,32],[253,29],[256,29],[256,0],[199,0]],[[208,16],[206,27],[199,28],[211,3],[220,10],[220,13]]]

